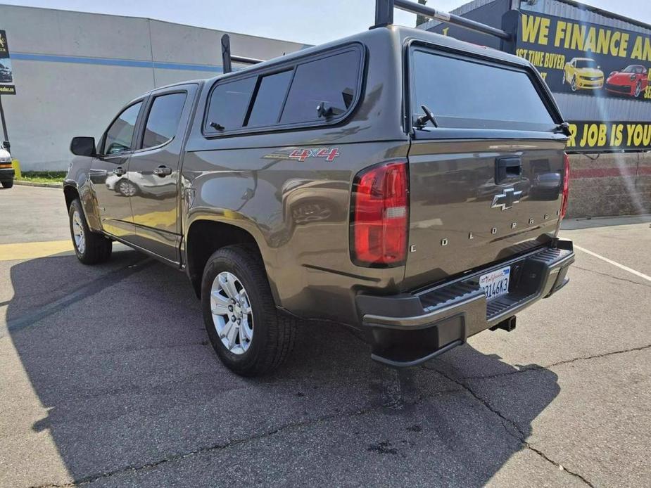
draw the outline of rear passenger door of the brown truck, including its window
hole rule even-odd
[[[137,150],[129,161],[134,243],[179,262],[179,162],[197,85],[155,91],[147,101]]]

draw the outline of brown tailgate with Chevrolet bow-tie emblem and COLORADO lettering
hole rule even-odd
[[[562,203],[564,141],[416,139],[409,153],[405,288],[547,243]]]

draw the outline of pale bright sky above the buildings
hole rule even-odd
[[[469,0],[429,0],[450,11]],[[148,17],[209,29],[241,32],[303,44],[322,44],[367,30],[374,0],[0,0],[3,4]],[[586,0],[605,10],[651,24],[651,0]],[[396,10],[394,22],[415,25]]]

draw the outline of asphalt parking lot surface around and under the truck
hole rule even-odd
[[[419,368],[333,324],[268,378],[216,359],[187,278],[84,267],[63,192],[0,190],[0,486],[648,486],[651,217],[567,221],[562,293]]]

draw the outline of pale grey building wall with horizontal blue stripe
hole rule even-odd
[[[225,32],[145,18],[0,5],[17,94],[3,96],[11,153],[26,171],[63,170],[70,139],[95,136],[129,100],[222,72]],[[269,59],[303,44],[232,34],[234,53]]]

